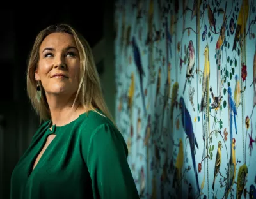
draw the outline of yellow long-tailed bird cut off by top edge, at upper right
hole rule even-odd
[[[248,13],[249,13],[249,2],[248,2],[248,0],[243,0],[243,3],[241,5],[240,11],[239,11],[239,15],[237,18],[236,33],[235,33],[232,50],[236,50],[237,42],[246,33],[246,24],[247,24],[247,19],[248,19]]]

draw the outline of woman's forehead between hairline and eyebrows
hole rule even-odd
[[[69,45],[76,47],[76,42],[74,37],[68,33],[51,33],[45,37],[40,45],[40,51],[44,50],[44,48],[65,48]]]

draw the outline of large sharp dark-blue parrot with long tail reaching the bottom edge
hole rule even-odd
[[[200,188],[199,188],[198,175],[197,175],[197,169],[196,169],[196,160],[195,160],[195,145],[196,145],[196,148],[198,149],[198,144],[195,138],[191,116],[188,112],[188,109],[186,108],[183,97],[180,97],[180,110],[181,110],[181,117],[182,117],[182,126],[185,130],[186,135],[189,138],[189,145],[190,145],[190,151],[191,151],[193,167],[194,167],[194,172],[196,177],[196,184],[197,184],[198,193],[200,196]]]

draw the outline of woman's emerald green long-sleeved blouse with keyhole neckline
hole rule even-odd
[[[44,122],[15,166],[11,199],[139,198],[125,140],[106,117],[90,111],[65,126]],[[47,136],[56,134],[32,171]]]

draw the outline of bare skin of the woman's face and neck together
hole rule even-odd
[[[67,33],[49,34],[39,49],[35,80],[41,81],[50,108],[52,124],[63,126],[74,121],[86,108],[72,109],[79,86],[80,57],[76,42]],[[66,77],[52,77],[56,73]]]

